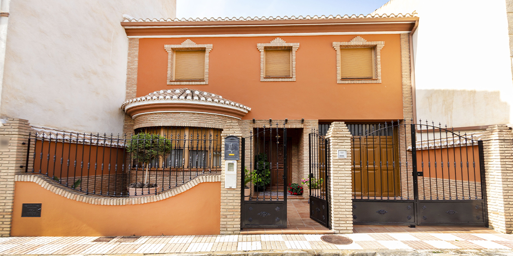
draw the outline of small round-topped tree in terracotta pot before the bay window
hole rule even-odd
[[[132,154],[132,158],[137,162],[144,163],[146,167],[144,173],[144,182],[134,182],[129,185],[129,195],[143,195],[144,188],[153,188],[158,191],[155,183],[148,182],[149,163],[159,159],[171,152],[171,142],[165,137],[156,134],[138,133],[132,136],[127,144],[127,152]]]

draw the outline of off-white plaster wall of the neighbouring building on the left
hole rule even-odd
[[[176,0],[10,0],[0,114],[58,129],[121,133],[123,14],[174,18]]]

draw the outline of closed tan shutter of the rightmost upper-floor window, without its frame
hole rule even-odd
[[[374,59],[373,48],[341,48],[340,77],[341,78],[373,78]]]

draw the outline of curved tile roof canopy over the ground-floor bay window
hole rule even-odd
[[[241,119],[251,108],[209,92],[188,88],[160,90],[126,100],[121,105],[130,117],[149,113],[203,113]]]

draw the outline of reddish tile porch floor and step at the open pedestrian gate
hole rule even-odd
[[[287,200],[287,228],[246,228],[241,234],[332,234],[310,219],[308,200]]]

